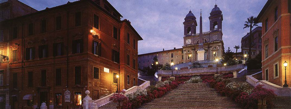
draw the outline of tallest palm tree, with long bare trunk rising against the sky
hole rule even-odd
[[[251,59],[251,48],[252,48],[252,28],[255,26],[258,26],[257,22],[255,22],[256,17],[254,16],[250,16],[249,18],[247,18],[247,21],[245,21],[245,27],[243,27],[243,29],[245,28],[249,28],[249,59]]]

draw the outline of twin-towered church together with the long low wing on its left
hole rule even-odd
[[[163,50],[158,52],[139,54],[139,68],[151,66],[153,58],[157,57],[160,64],[182,64],[200,61],[204,67],[216,67],[215,59],[221,60],[224,52],[222,41],[222,11],[217,7],[210,12],[209,31],[202,32],[202,14],[199,19],[199,33],[196,33],[197,21],[195,15],[189,11],[184,18],[184,45],[182,48]],[[220,61],[219,61],[220,62]],[[220,65],[220,64],[219,64]]]

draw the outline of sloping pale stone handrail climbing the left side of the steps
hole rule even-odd
[[[140,78],[139,78],[139,79],[140,79]],[[140,80],[142,80],[142,79],[140,79]],[[145,81],[145,80],[143,80],[143,81]],[[127,89],[127,90],[125,91],[125,94],[127,94],[127,93],[132,93],[132,92],[134,92],[134,91],[136,91],[136,90],[138,90],[138,89],[145,89],[145,88],[147,88],[148,86],[150,86],[150,81],[145,81],[143,84],[141,84],[141,85],[139,85],[139,86],[133,86],[133,87]],[[107,95],[107,96],[105,96],[105,97],[102,97],[102,98],[100,98],[100,99],[98,99],[98,100],[95,100],[95,101],[93,101],[93,102],[95,102],[95,103],[97,104],[97,106],[100,107],[100,106],[102,106],[102,105],[104,105],[104,104],[107,104],[107,103],[109,102],[109,98],[110,98],[113,94],[115,94],[115,93],[109,94],[109,95]]]

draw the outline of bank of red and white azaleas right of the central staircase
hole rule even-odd
[[[268,107],[273,104],[270,101],[274,96],[272,90],[263,88],[263,85],[257,85],[255,88],[249,83],[236,83],[227,78],[232,78],[232,73],[228,74],[204,74],[200,75],[202,82],[207,82],[212,88],[215,88],[223,96],[227,96],[241,104],[244,108],[257,108],[258,101],[266,99]]]

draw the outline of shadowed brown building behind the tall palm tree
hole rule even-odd
[[[241,52],[237,53],[238,60],[248,60],[248,55],[251,54],[251,58],[255,58],[256,55],[262,52],[262,27],[258,26],[252,30],[252,48],[249,53],[249,33],[243,36],[241,40]],[[244,57],[244,55],[247,57]],[[236,55],[236,54],[235,54]],[[235,57],[236,58],[236,57]]]

